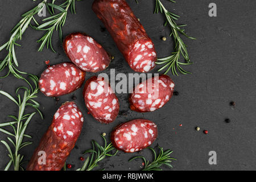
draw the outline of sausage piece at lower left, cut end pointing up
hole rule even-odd
[[[84,118],[75,102],[65,102],[56,111],[51,126],[43,135],[28,171],[59,171],[75,146]]]

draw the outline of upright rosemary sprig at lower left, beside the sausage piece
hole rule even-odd
[[[31,121],[31,118],[34,116],[34,114],[36,112],[31,113],[31,114],[24,114],[26,107],[27,106],[33,107],[36,111],[38,111],[40,116],[43,118],[42,113],[38,109],[39,103],[34,100],[34,98],[37,97],[36,93],[39,92],[38,77],[36,77],[34,75],[29,75],[28,77],[32,80],[32,82],[34,82],[35,88],[33,88],[31,85],[30,85],[30,89],[28,89],[25,86],[19,87],[18,89],[16,89],[16,97],[18,98],[17,100],[15,100],[15,98],[12,97],[9,93],[6,93],[6,92],[0,90],[0,94],[3,94],[7,98],[9,98],[11,101],[13,101],[19,107],[18,117],[16,117],[15,115],[8,115],[8,117],[14,119],[14,121],[0,123],[0,131],[2,133],[10,135],[10,137],[14,138],[14,140],[13,140],[10,137],[7,137],[9,142],[11,144],[13,144],[13,147],[15,148],[14,151],[11,150],[11,147],[5,140],[0,141],[3,144],[5,144],[7,150],[9,151],[8,156],[10,157],[10,161],[5,168],[5,171],[7,171],[10,168],[11,164],[13,164],[15,171],[19,171],[19,169],[23,170],[23,168],[21,166],[23,164],[23,162],[22,162],[23,155],[19,154],[19,151],[23,147],[32,143],[29,141],[23,142],[23,138],[24,137],[32,138],[30,135],[26,135],[25,131],[27,129],[28,123]],[[20,89],[24,90],[23,100],[22,100],[20,94],[18,94],[18,91]],[[5,127],[5,126],[11,126],[14,130],[14,133],[10,133],[9,131],[2,129],[2,127]]]

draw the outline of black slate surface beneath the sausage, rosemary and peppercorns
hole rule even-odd
[[[108,31],[101,32],[103,25],[91,9],[92,0],[76,2],[77,14],[68,14],[67,23],[63,27],[64,36],[71,32],[81,31],[92,36],[102,46],[114,55],[115,59],[106,69],[115,68],[115,73],[133,73],[115,46]],[[163,42],[160,38],[168,36],[170,29],[163,26],[164,16],[153,14],[155,1],[140,0],[139,5],[133,0],[127,0],[134,14],[141,20],[147,34],[155,43],[158,57],[170,55],[173,51],[173,40],[167,38]],[[179,96],[172,97],[162,109],[152,113],[136,113],[129,109],[128,94],[118,94],[120,110],[127,115],[118,115],[110,125],[102,125],[87,114],[82,98],[82,89],[61,96],[56,103],[42,93],[38,94],[40,110],[44,119],[36,114],[27,129],[27,134],[33,136],[33,144],[20,151],[24,160],[31,158],[32,152],[39,144],[39,140],[52,121],[52,116],[61,103],[71,101],[72,96],[77,97],[76,103],[85,117],[84,128],[79,140],[69,156],[67,162],[73,164],[72,169],[82,166],[79,160],[82,152],[91,148],[92,139],[101,142],[101,133],[107,133],[119,123],[135,118],[151,119],[158,125],[159,137],[152,144],[170,148],[172,156],[177,159],[171,170],[251,170],[256,168],[256,114],[255,114],[255,10],[256,1],[177,1],[176,4],[162,1],[168,10],[181,16],[178,23],[186,23],[188,35],[197,38],[189,40],[183,37],[188,46],[188,52],[193,65],[184,67],[193,72],[192,75],[172,76]],[[210,2],[217,4],[217,17],[208,16]],[[39,1],[30,0],[0,1],[0,44],[10,38],[10,30],[18,23],[20,15],[37,5]],[[49,14],[47,14],[49,15]],[[43,32],[28,28],[22,37],[22,47],[16,47],[16,56],[19,61],[19,70],[40,76],[46,69],[45,60],[50,64],[69,61],[60,46],[58,34],[53,36],[53,46],[57,53],[44,49],[37,52],[39,44],[36,43]],[[0,52],[3,60],[6,52]],[[154,69],[152,73],[157,72]],[[92,73],[87,73],[86,79]],[[14,96],[18,86],[26,85],[14,76],[0,80],[0,89]],[[236,107],[230,107],[229,102],[235,101]],[[0,96],[0,122],[10,121],[8,114],[18,114],[18,108],[4,96]],[[28,109],[27,112],[32,110]],[[232,122],[225,123],[225,118]],[[183,126],[179,126],[180,123]],[[200,131],[195,127],[199,126]],[[209,133],[205,135],[203,130]],[[7,130],[10,130],[7,129]],[[6,135],[0,133],[0,139],[7,140]],[[109,141],[109,138],[108,138]],[[217,152],[217,165],[209,165],[208,152]],[[139,170],[142,161],[128,162],[135,155],[144,155],[151,159],[149,151],[141,154],[125,154],[118,152],[117,156],[107,158],[100,163],[106,170]],[[0,169],[3,170],[9,162],[7,150],[0,144]],[[25,166],[24,166],[25,167]],[[164,170],[170,168],[164,167]]]

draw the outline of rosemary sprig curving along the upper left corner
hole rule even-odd
[[[0,78],[7,77],[10,73],[12,73],[16,78],[22,78],[29,84],[29,82],[21,75],[21,74],[27,74],[27,73],[21,72],[17,68],[15,68],[15,66],[18,67],[18,60],[16,59],[15,46],[20,46],[20,44],[16,43],[17,40],[22,39],[22,35],[24,34],[24,31],[27,29],[31,20],[34,19],[34,15],[38,14],[40,11],[43,10],[44,5],[46,5],[46,2],[47,0],[44,0],[41,3],[39,3],[39,5],[34,7],[34,9],[31,9],[30,11],[27,11],[27,13],[24,13],[22,15],[23,18],[19,21],[18,24],[16,24],[13,30],[11,30],[11,36],[9,41],[0,47],[0,51],[2,51],[4,48],[6,48],[8,51],[7,56],[0,63],[0,72],[3,71],[4,68],[9,67],[8,73],[5,76],[2,76]]]

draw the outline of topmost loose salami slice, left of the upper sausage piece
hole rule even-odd
[[[63,48],[69,59],[86,72],[100,72],[110,63],[110,56],[93,38],[80,32],[69,34]]]

